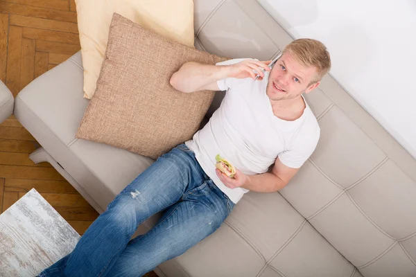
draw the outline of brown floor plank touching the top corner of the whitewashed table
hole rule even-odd
[[[6,179],[5,191],[28,192],[35,188],[38,193],[75,193],[78,194],[67,180],[37,180],[37,179]]]

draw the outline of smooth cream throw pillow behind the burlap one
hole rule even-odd
[[[193,0],[76,0],[84,66],[84,97],[91,99],[103,64],[114,12],[168,39],[193,47]]]

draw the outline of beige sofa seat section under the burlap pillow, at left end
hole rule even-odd
[[[84,190],[80,193],[94,199],[96,204],[90,204],[102,212],[153,159],[76,139],[88,102],[83,98],[83,66],[78,52],[19,93],[15,116],[75,179]]]

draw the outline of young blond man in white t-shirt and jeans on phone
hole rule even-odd
[[[142,276],[216,231],[244,193],[286,186],[320,136],[302,93],[318,87],[331,60],[322,43],[297,39],[271,71],[269,63],[188,62],[174,73],[171,84],[184,93],[227,91],[220,108],[193,140],[159,157],[124,188],[76,249],[40,276]],[[236,167],[234,178],[216,169],[217,154]],[[153,229],[130,240],[159,211]]]

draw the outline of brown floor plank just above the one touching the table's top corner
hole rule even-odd
[[[64,177],[55,168],[40,168],[37,166],[0,165],[0,178],[64,180]]]

